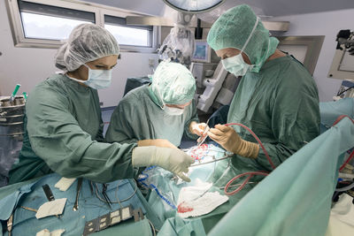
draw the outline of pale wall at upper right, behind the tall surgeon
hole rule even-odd
[[[313,77],[319,88],[321,102],[332,101],[342,84],[342,80],[327,78],[330,65],[335,56],[335,36],[341,29],[354,30],[352,16],[354,9],[342,11],[325,11],[312,14],[301,14],[273,18],[272,20],[290,21],[289,31],[282,35],[325,35],[319,60]]]

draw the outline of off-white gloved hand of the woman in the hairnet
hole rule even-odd
[[[135,167],[158,165],[187,182],[190,179],[184,173],[189,171],[193,162],[191,156],[175,148],[137,147],[133,149],[132,155],[132,164]]]

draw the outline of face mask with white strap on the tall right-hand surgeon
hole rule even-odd
[[[248,65],[244,62],[242,57],[242,52],[246,48],[247,44],[250,42],[250,37],[252,36],[253,32],[256,30],[258,26],[259,19],[257,18],[256,24],[254,25],[252,31],[250,32],[250,36],[247,41],[244,43],[240,54],[237,54],[235,57],[227,57],[226,59],[221,60],[222,65],[224,66],[227,72],[235,74],[235,76],[243,76],[248,72],[250,69],[253,68],[254,65]]]

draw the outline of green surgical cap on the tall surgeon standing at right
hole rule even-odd
[[[209,31],[207,42],[214,50],[227,48],[241,50],[256,21],[257,15],[249,5],[235,6],[214,22]],[[250,36],[250,42],[244,49],[251,64],[255,65],[251,72],[259,72],[266,59],[274,53],[278,43],[276,38],[269,36],[269,31],[259,21],[256,30]]]

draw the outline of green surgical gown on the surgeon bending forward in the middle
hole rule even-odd
[[[130,91],[113,111],[111,124],[105,135],[108,142],[136,142],[147,139],[165,139],[180,146],[183,133],[189,133],[191,121],[198,122],[195,103],[190,103],[181,116],[166,114],[149,95],[149,85]]]

